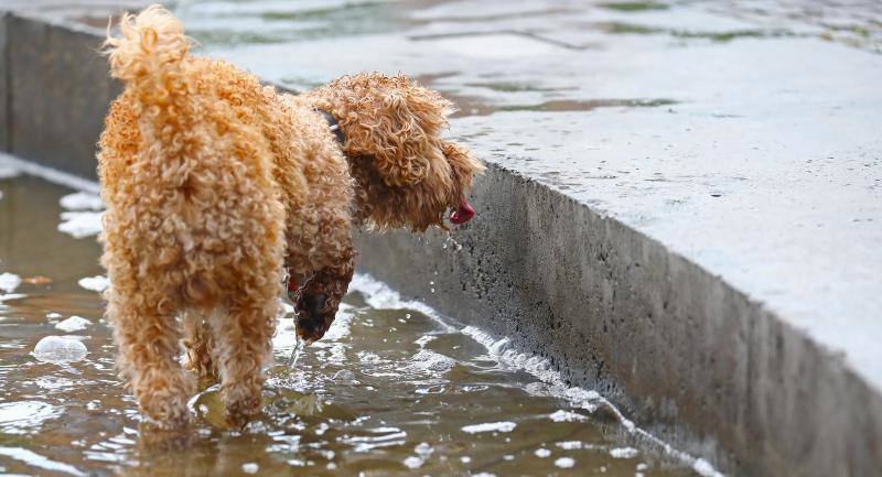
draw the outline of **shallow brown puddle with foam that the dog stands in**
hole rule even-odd
[[[95,224],[89,196],[28,175],[0,192],[0,474],[713,475],[542,360],[365,275],[294,369],[291,316],[280,321],[263,413],[244,431],[225,427],[208,388],[190,434],[142,433],[95,291],[100,248],[73,237]],[[83,209],[73,219],[65,196]],[[53,335],[71,349],[35,353]]]

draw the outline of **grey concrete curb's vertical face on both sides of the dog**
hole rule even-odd
[[[2,17],[0,147],[95,177],[94,143],[119,91],[100,40]],[[512,337],[733,474],[882,475],[880,391],[762,304],[517,171],[491,162],[473,195],[480,215],[453,237],[460,250],[440,232],[363,235],[359,267]]]

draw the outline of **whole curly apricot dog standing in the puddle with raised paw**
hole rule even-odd
[[[482,165],[440,139],[452,105],[404,76],[283,95],[191,56],[159,6],[120,29],[106,52],[126,88],[98,153],[119,366],[161,427],[190,419],[184,367],[219,380],[243,423],[259,410],[286,268],[303,280],[298,334],[319,339],[352,279],[353,230],[443,226]],[[344,144],[316,109],[337,119]]]

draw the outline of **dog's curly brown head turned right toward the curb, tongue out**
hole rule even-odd
[[[453,105],[405,76],[345,76],[309,94],[334,115],[358,184],[362,218],[377,229],[443,227],[467,221],[474,174],[484,170],[467,149],[440,139]]]

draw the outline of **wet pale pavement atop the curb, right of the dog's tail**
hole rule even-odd
[[[882,387],[882,3],[173,3],[306,89],[406,73],[451,134],[764,302]],[[847,325],[847,326],[845,326]]]

